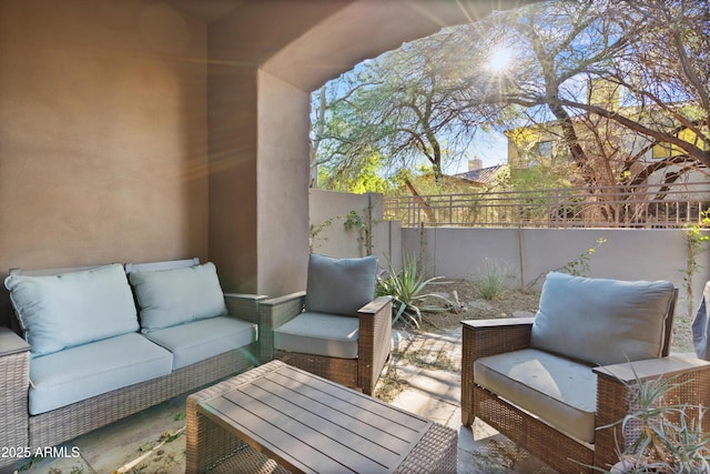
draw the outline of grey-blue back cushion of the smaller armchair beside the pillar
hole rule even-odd
[[[308,259],[306,311],[356,316],[375,299],[377,258],[333,259],[312,254]]]

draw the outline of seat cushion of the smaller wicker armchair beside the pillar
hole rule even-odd
[[[274,330],[274,349],[327,357],[357,359],[359,320],[306,311]]]

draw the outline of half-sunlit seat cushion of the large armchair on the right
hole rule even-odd
[[[590,366],[524,349],[477,360],[474,381],[557,430],[594,443],[597,376]]]

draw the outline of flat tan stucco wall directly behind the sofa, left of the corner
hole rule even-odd
[[[161,3],[0,0],[0,275],[207,258],[205,58]]]

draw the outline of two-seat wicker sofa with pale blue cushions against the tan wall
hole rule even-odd
[[[262,296],[196,259],[13,270],[24,340],[0,329],[0,467],[251,369]]]

